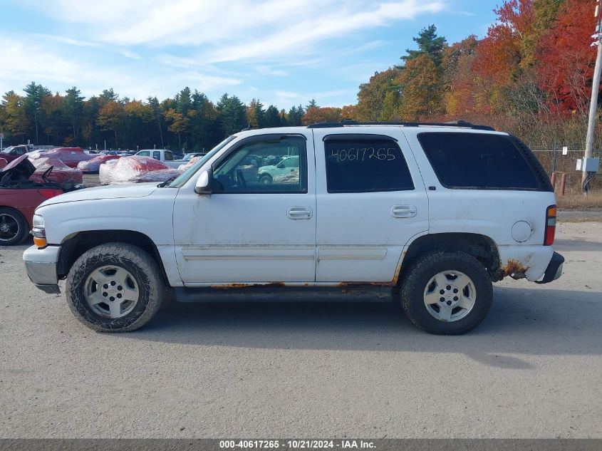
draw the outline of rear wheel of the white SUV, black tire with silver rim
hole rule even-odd
[[[487,316],[493,286],[489,273],[473,256],[432,252],[412,262],[401,281],[400,297],[405,314],[417,328],[437,335],[460,335]]]

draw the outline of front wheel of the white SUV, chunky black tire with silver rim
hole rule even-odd
[[[84,252],[66,280],[69,308],[85,326],[100,332],[130,332],[144,326],[160,309],[164,295],[155,259],[125,243]]]

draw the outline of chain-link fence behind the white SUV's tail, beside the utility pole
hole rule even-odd
[[[581,193],[581,171],[576,170],[577,160],[583,158],[585,147],[582,143],[562,145],[529,145],[535,156],[541,162],[548,175],[556,172],[556,192],[560,190],[562,174],[566,174],[567,195]],[[564,155],[566,147],[566,155]],[[602,159],[602,145],[594,147],[593,157]],[[602,192],[602,173],[598,172],[590,183],[591,192]]]

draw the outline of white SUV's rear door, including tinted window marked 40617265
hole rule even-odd
[[[428,230],[425,187],[399,128],[348,130],[313,130],[316,281],[393,282],[405,244]]]

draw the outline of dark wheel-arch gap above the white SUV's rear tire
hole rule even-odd
[[[412,260],[433,251],[466,252],[481,262],[492,281],[501,280],[503,277],[499,250],[493,239],[474,233],[440,233],[421,235],[410,242],[403,256],[399,279],[410,268]]]

